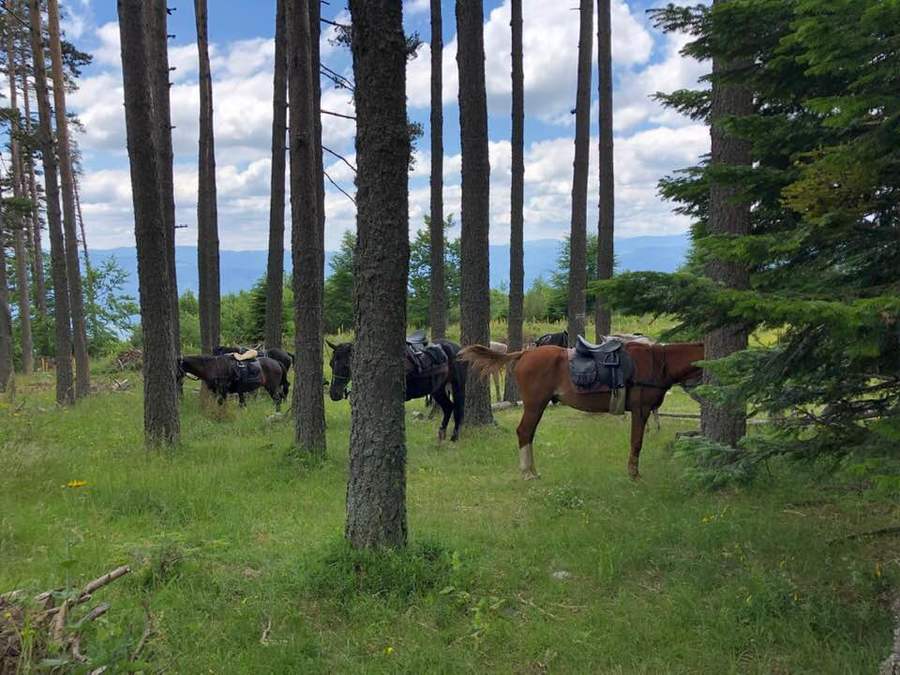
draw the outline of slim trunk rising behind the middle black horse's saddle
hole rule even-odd
[[[444,28],[441,0],[431,0],[431,296],[432,339],[447,334],[447,291],[444,281]]]

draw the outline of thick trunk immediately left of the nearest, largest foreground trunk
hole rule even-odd
[[[294,441],[314,457],[325,455],[325,393],[322,388],[322,294],[324,249],[319,218],[315,83],[309,2],[286,0],[287,69],[291,153],[291,254],[294,287]],[[318,72],[317,70],[315,72]]]

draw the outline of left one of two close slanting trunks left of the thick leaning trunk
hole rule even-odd
[[[56,331],[56,402],[70,405],[75,402],[72,376],[72,326],[69,311],[69,275],[66,265],[66,244],[59,212],[59,177],[56,149],[50,131],[50,98],[47,92],[44,41],[41,34],[40,0],[29,0],[31,22],[31,52],[34,59],[34,91],[38,104],[41,163],[44,167],[44,197],[47,201],[47,229],[50,233],[50,261],[53,273]]]

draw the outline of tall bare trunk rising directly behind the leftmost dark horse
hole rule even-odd
[[[200,344],[212,354],[219,342],[219,223],[216,206],[216,149],[213,136],[212,74],[209,70],[206,0],[194,0],[200,57],[200,152],[197,163],[197,271],[200,277]]]

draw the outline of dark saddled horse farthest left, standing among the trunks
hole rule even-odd
[[[237,394],[241,407],[246,405],[244,394],[265,387],[275,401],[275,409],[281,408],[281,401],[287,395],[287,374],[275,359],[261,356],[257,359],[260,379],[244,382],[237,375],[237,361],[231,356],[183,356],[178,359],[178,381],[185,375],[193,375],[203,380],[216,395],[219,405],[225,403],[228,394]]]

